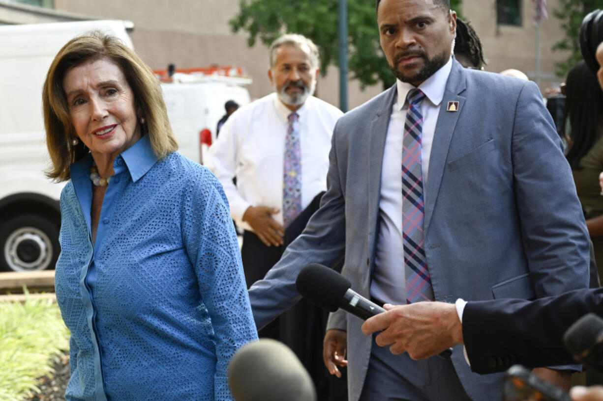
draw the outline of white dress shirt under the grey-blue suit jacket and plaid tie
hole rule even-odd
[[[421,171],[423,173],[424,201],[435,124],[440,114],[440,104],[451,69],[452,58],[418,87],[426,96],[421,102],[421,114],[423,114]],[[375,266],[371,277],[371,296],[394,305],[405,305],[406,281],[402,249],[402,138],[406,110],[408,110],[406,95],[409,90],[414,89],[414,86],[400,80],[396,84],[398,97],[391,110],[381,167],[379,236],[376,244]]]

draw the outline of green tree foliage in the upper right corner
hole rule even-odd
[[[603,8],[603,0],[560,0],[559,8],[553,11],[558,19],[561,19],[561,27],[566,36],[555,43],[553,50],[569,51],[570,55],[566,61],[555,64],[558,76],[566,76],[570,68],[582,60],[580,53],[579,33],[582,19],[590,11]]]

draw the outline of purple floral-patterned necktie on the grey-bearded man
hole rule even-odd
[[[301,213],[301,148],[297,113],[289,114],[283,164],[283,221],[285,228]]]

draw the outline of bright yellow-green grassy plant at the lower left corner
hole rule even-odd
[[[27,291],[26,291],[27,293]],[[0,302],[0,400],[22,401],[69,349],[69,331],[51,299]]]

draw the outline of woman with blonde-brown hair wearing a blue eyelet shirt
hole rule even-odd
[[[61,195],[58,305],[72,400],[231,400],[257,338],[226,196],[175,152],[159,82],[98,31],[58,52],[43,88]]]

